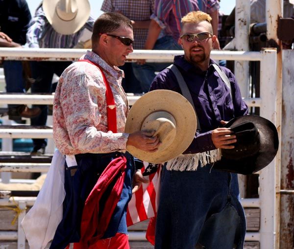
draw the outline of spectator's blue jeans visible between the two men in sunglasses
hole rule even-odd
[[[175,41],[172,36],[164,36],[158,39],[153,50],[181,50],[182,47]],[[159,72],[170,66],[171,63],[145,63],[138,65],[133,63],[133,70],[136,78],[140,81],[143,92],[147,92],[155,77],[155,72]]]

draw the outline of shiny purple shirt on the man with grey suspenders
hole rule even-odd
[[[248,107],[242,99],[240,88],[233,73],[224,67],[221,70],[226,74],[231,83],[232,97],[229,89],[221,80],[221,77],[211,65],[210,60],[207,71],[193,66],[184,59],[183,55],[175,56],[173,64],[179,71],[190,90],[201,131],[196,132],[196,137],[184,152],[195,154],[216,149],[212,139],[212,130],[221,126],[221,120],[242,116],[248,113]],[[150,91],[167,89],[181,93],[176,78],[171,69],[166,68],[155,77]]]

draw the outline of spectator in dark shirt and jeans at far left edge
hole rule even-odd
[[[28,23],[31,20],[25,0],[0,1],[0,47],[22,47]],[[26,82],[21,61],[2,62],[7,92],[25,92]],[[40,108],[26,105],[8,105],[9,119],[34,117],[41,113]]]

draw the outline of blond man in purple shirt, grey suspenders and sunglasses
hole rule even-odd
[[[213,162],[220,149],[232,149],[236,142],[221,126],[248,108],[232,72],[210,59],[217,39],[211,17],[194,11],[181,24],[184,55],[155,77],[150,91],[168,89],[188,99],[189,92],[197,131],[183,155],[162,169],[155,249],[243,249],[245,215],[237,175],[214,169]]]

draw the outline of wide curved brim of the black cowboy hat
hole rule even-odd
[[[243,122],[252,122],[260,134],[260,150],[252,157],[242,159],[228,159],[222,157],[214,163],[214,168],[226,170],[238,174],[253,174],[273,160],[279,148],[279,138],[276,127],[270,120],[257,115],[245,115],[232,120],[231,125],[238,125]]]

